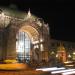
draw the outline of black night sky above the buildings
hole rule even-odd
[[[50,26],[51,38],[75,42],[75,4],[72,0],[0,0],[0,5],[15,4],[44,19]]]

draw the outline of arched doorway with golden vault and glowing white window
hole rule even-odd
[[[32,57],[35,56],[35,49],[39,48],[39,34],[38,31],[33,28],[32,26],[23,26],[19,29],[18,33],[16,34],[16,52],[17,52],[17,59],[20,62],[29,62]],[[32,45],[33,49],[32,49]],[[37,60],[37,55],[35,58]]]

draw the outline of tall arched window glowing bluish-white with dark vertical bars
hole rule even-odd
[[[30,38],[26,32],[19,32],[16,36],[17,59],[20,61],[30,60]]]

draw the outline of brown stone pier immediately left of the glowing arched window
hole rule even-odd
[[[7,31],[6,59],[16,59],[16,31],[12,26],[10,26]]]

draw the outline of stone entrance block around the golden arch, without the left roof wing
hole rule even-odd
[[[48,61],[49,27],[42,19],[28,13],[24,18],[11,19],[6,31],[5,59]]]

